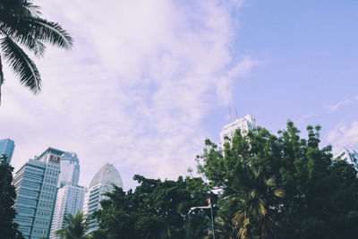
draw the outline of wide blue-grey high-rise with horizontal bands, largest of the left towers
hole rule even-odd
[[[14,222],[27,239],[48,237],[55,208],[55,193],[64,151],[48,148],[16,172],[13,185],[17,193]]]

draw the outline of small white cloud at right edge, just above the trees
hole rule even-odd
[[[337,126],[328,134],[328,142],[333,145],[335,152],[343,147],[358,146],[358,121],[347,125],[337,124]]]

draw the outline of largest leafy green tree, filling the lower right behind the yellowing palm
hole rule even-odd
[[[308,138],[303,139],[288,122],[278,136],[260,127],[247,135],[237,131],[233,139],[226,138],[223,149],[207,140],[197,158],[198,171],[212,188],[223,192],[219,217],[240,222],[236,229],[248,228],[247,235],[253,238],[356,238],[357,172],[344,161],[333,160],[330,146],[320,148],[320,126],[309,126],[307,131]],[[260,210],[248,210],[251,199],[247,192],[256,187],[248,174],[252,167],[260,167],[260,174],[268,179],[275,178],[275,187],[285,192],[283,198],[261,193],[267,211],[264,218],[271,222],[266,226],[257,217],[249,217],[260,215]],[[269,192],[266,186],[268,191],[260,192]],[[271,233],[266,234],[264,227]]]

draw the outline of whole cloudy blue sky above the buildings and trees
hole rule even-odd
[[[124,190],[135,174],[176,179],[209,138],[253,115],[322,126],[322,145],[358,146],[358,2],[34,0],[74,38],[34,61],[33,95],[4,69],[0,139],[19,169],[48,147],[73,151],[88,186],[106,162]]]

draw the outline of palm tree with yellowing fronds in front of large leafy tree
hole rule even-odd
[[[240,208],[232,219],[234,225],[238,226],[237,236],[252,238],[252,227],[256,226],[262,238],[273,238],[277,223],[268,215],[268,209],[277,209],[278,205],[270,205],[269,202],[284,197],[285,192],[277,187],[275,176],[268,178],[260,166],[251,166],[247,173],[251,184],[243,193],[233,195],[230,201]]]

